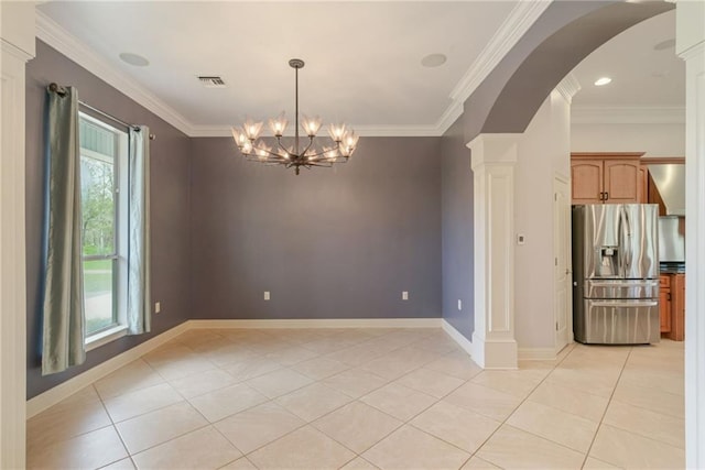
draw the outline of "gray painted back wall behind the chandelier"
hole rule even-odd
[[[440,317],[440,138],[365,138],[295,176],[193,139],[194,316]]]

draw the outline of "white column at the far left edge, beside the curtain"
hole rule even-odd
[[[34,56],[34,3],[0,2],[0,468],[25,461],[24,68]]]

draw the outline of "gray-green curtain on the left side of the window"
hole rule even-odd
[[[86,360],[77,95],[47,90],[43,375]]]

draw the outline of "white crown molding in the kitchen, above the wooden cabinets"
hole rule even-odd
[[[683,124],[682,107],[572,107],[572,124]]]

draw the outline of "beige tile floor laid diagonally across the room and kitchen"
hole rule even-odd
[[[683,468],[683,343],[482,371],[440,329],[191,330],[28,422],[30,468]]]

